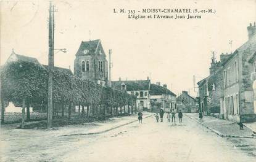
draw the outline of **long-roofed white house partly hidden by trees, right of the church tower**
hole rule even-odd
[[[136,95],[136,107],[138,110],[150,111],[149,89],[151,87],[151,80],[121,80],[112,81],[112,88],[126,91],[128,94]]]

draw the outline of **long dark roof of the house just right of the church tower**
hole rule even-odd
[[[127,91],[149,90],[150,80],[112,81],[112,88],[121,90],[122,83],[125,83]]]

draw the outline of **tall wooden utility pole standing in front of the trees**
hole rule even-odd
[[[48,54],[48,65],[49,65],[49,79],[48,79],[48,106],[47,106],[47,128],[52,127],[52,69],[53,69],[53,33],[52,33],[52,26],[54,26],[52,22],[52,3],[50,1],[50,7],[49,7],[49,54]]]

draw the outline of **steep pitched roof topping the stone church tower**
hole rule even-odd
[[[76,52],[76,56],[78,55],[94,55],[99,52],[98,49],[102,49],[102,53],[105,55],[104,50],[101,45],[101,40],[96,39],[93,41],[82,41],[78,51]],[[84,53],[84,50],[88,50],[88,53]]]

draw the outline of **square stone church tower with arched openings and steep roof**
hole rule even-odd
[[[74,74],[102,86],[108,84],[108,66],[101,40],[82,41],[75,55]]]

